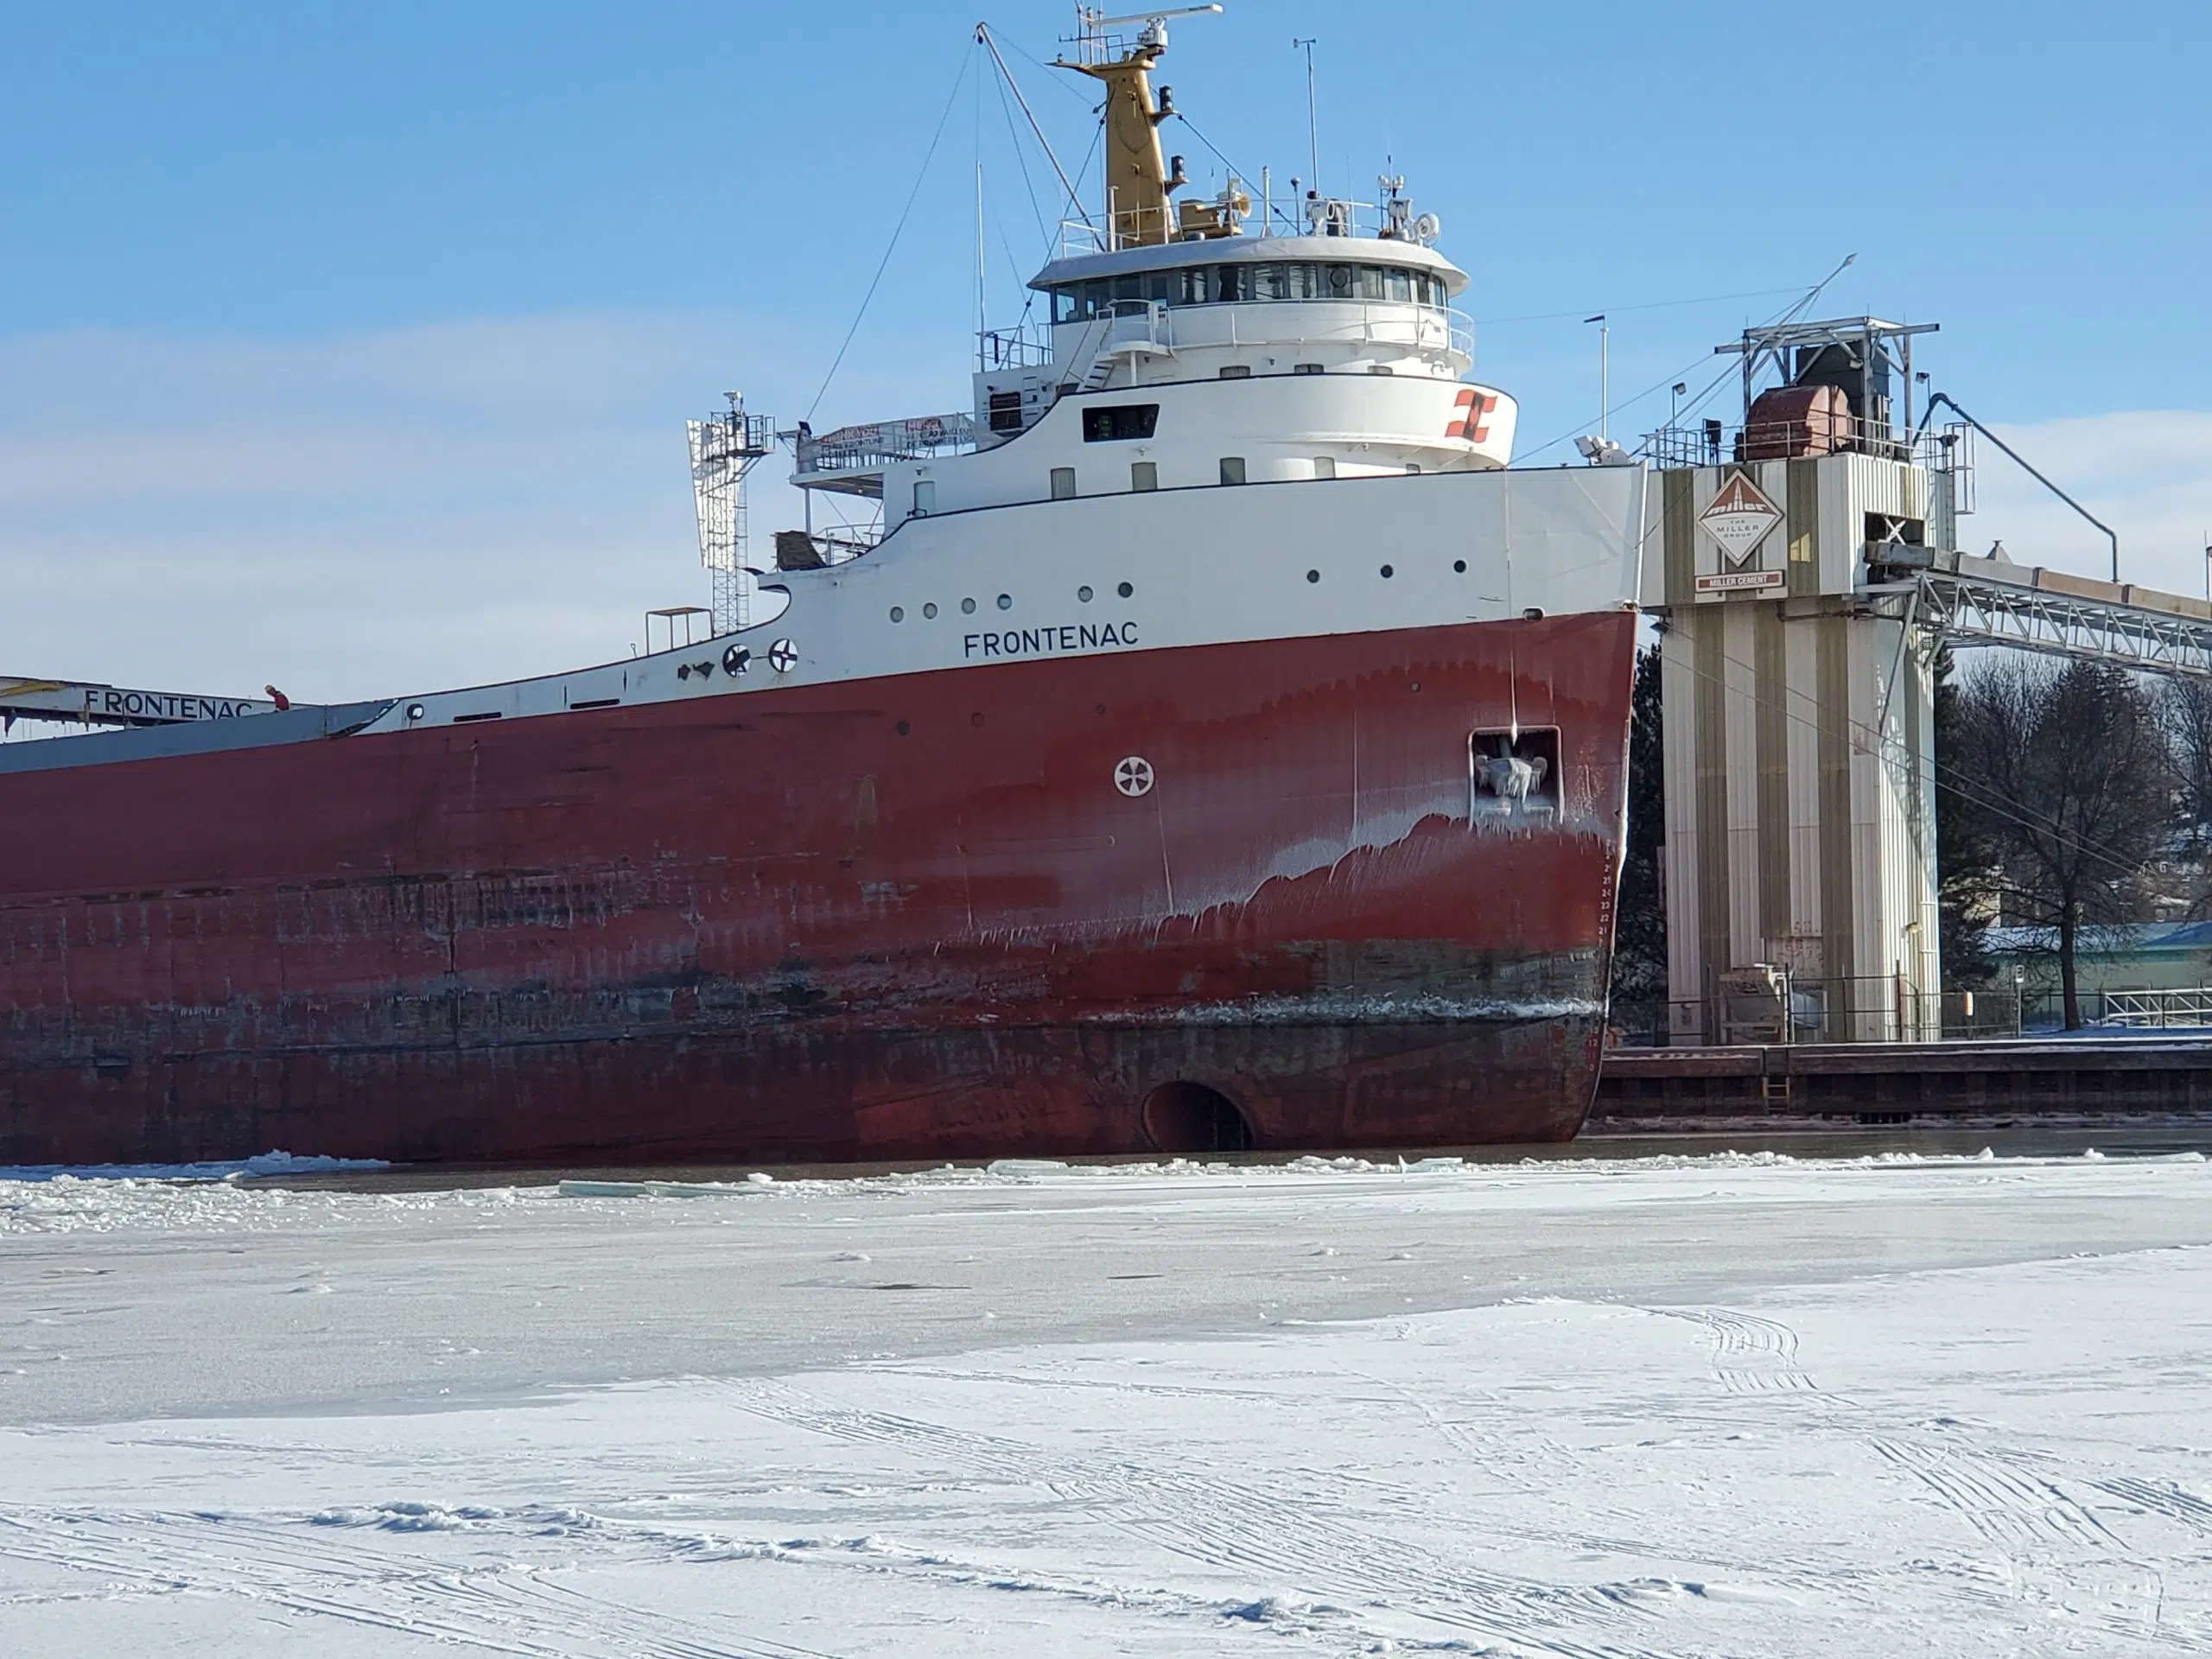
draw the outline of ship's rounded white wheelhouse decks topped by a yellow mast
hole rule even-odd
[[[1159,153],[1172,111],[1150,88],[1164,49],[1155,31],[1064,64],[1128,115],[1106,124],[1106,208],[1062,228],[1020,323],[978,332],[969,409],[799,434],[794,482],[883,504],[863,538],[1104,493],[1509,465],[1513,400],[1467,380],[1469,279],[1436,252],[1436,215],[1402,179],[1376,204],[1265,184],[1254,204],[1237,179],[1172,201],[1186,177]]]

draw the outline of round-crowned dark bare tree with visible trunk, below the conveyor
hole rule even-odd
[[[1949,794],[1997,852],[2006,911],[2055,936],[2066,1029],[2077,1031],[2081,929],[2135,920],[2137,876],[2172,834],[2166,728],[2124,670],[2024,657],[1960,686],[1953,728]]]

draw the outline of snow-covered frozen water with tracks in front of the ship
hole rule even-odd
[[[0,1181],[0,1652],[2212,1650],[2212,1166]]]

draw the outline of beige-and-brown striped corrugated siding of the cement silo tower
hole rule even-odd
[[[1927,476],[1869,456],[1745,467],[1783,509],[1761,568],[1787,597],[1694,602],[1719,555],[1697,529],[1730,467],[1663,476],[1668,637],[1670,993],[1717,1037],[1721,969],[1783,960],[1823,980],[1829,1033],[1927,1033],[1933,942],[1929,684],[1900,630],[1849,613],[1867,513],[1924,518]],[[1887,728],[1876,730],[1878,726]],[[1918,922],[1916,931],[1907,931]],[[1927,1018],[1924,1018],[1927,1015]]]

